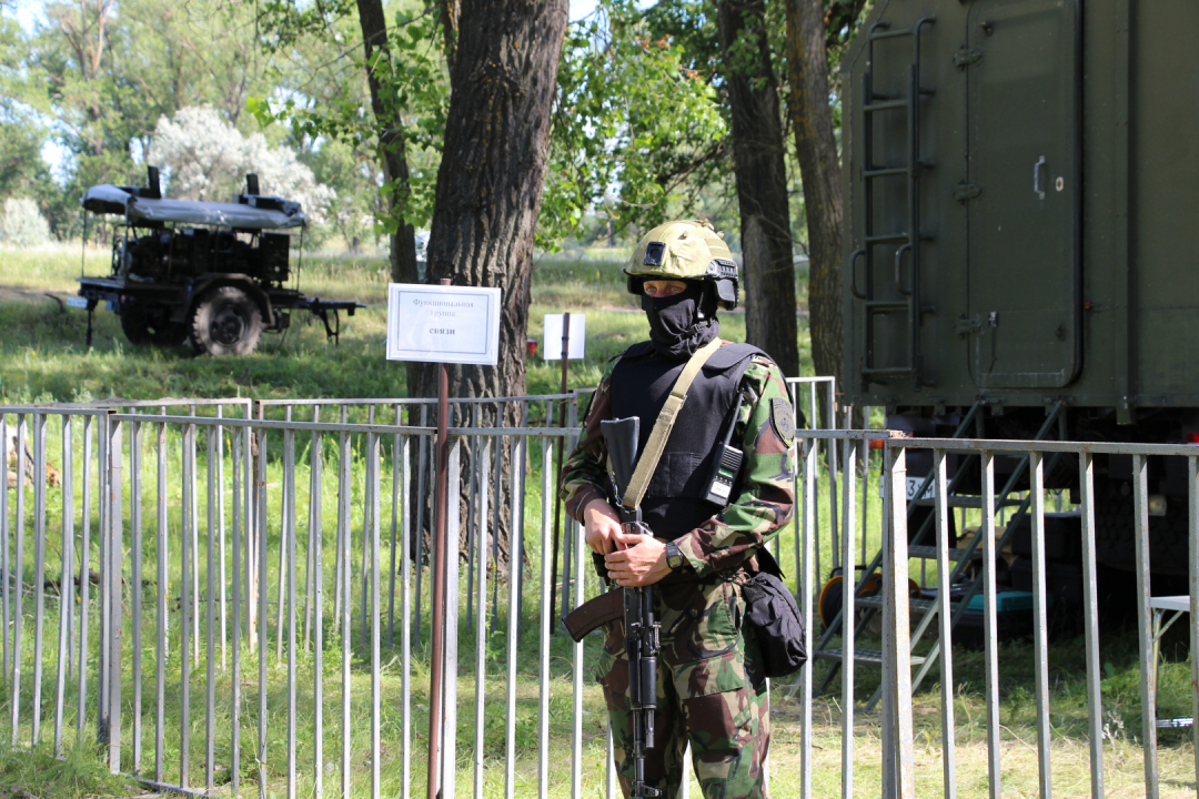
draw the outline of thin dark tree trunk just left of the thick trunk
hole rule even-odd
[[[384,92],[379,72],[391,72],[391,52],[387,47],[387,17],[382,0],[357,0],[359,23],[362,25],[362,46],[366,49],[367,84],[370,86],[370,110],[379,128],[379,156],[392,192],[387,211],[396,231],[391,234],[391,279],[394,283],[416,283],[416,231],[404,220],[408,205],[408,156],[404,143],[404,122],[396,98]]]

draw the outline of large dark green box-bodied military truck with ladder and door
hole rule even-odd
[[[1197,28],[1194,0],[874,5],[842,65],[845,402],[921,436],[1199,443]],[[1187,569],[1183,461],[1149,462],[1155,573]],[[1132,459],[1095,465],[1098,557],[1131,568]]]

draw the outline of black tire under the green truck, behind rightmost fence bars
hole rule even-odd
[[[1131,488],[1125,480],[1095,482],[1095,559],[1116,569],[1137,568]],[[1149,565],[1153,573],[1188,574],[1186,504],[1186,500],[1170,497],[1164,516],[1149,517]]]

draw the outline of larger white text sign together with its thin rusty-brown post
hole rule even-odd
[[[450,376],[447,363],[495,365],[499,361],[500,290],[391,284],[387,290],[387,359],[438,364],[436,473],[433,494],[433,653],[429,668],[428,799],[441,793],[440,749],[446,674],[446,515],[448,503]],[[406,546],[406,541],[405,541]],[[375,564],[378,568],[378,564]],[[420,568],[420,564],[417,564]],[[457,630],[457,619],[450,619]],[[378,648],[374,649],[378,658]],[[375,674],[379,662],[372,662]]]

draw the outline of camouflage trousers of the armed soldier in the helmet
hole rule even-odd
[[[770,749],[770,703],[757,648],[742,635],[740,585],[658,583],[655,593],[662,650],[646,782],[667,799],[679,797],[689,743],[705,799],[769,799],[763,764]],[[609,624],[605,632],[597,679],[608,703],[621,788],[629,797],[633,718],[623,623]]]

